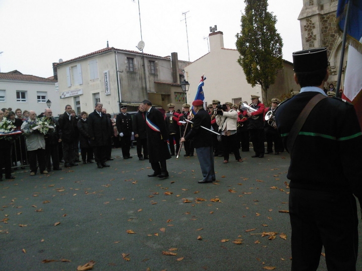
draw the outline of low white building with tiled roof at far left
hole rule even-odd
[[[50,100],[56,116],[61,113],[56,83],[56,80],[22,74],[17,70],[0,72],[0,108],[34,110],[40,114],[48,108],[46,102]]]

